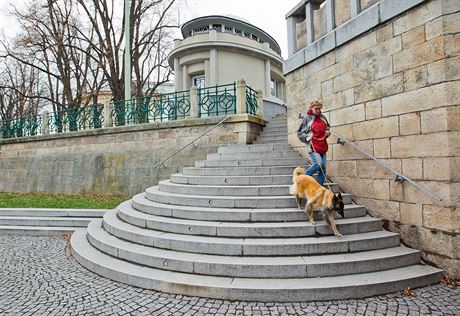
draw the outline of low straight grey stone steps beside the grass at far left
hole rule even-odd
[[[107,210],[0,208],[0,234],[57,236],[85,229]]]

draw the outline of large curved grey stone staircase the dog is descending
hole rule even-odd
[[[288,193],[304,164],[274,120],[254,144],[220,147],[75,232],[74,257],[123,283],[226,300],[348,299],[440,280],[350,194],[342,238],[320,212],[311,225]]]

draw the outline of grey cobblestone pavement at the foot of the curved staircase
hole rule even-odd
[[[143,290],[86,270],[58,237],[0,236],[1,315],[460,315],[460,289],[437,284],[358,300],[259,303]]]

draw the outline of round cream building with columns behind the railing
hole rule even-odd
[[[176,91],[244,79],[262,90],[265,100],[283,103],[281,49],[263,30],[240,18],[212,15],[186,22],[182,36],[169,55]]]

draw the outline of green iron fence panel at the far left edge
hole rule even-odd
[[[0,122],[2,138],[16,138],[40,135],[42,119],[40,115],[28,115]]]

